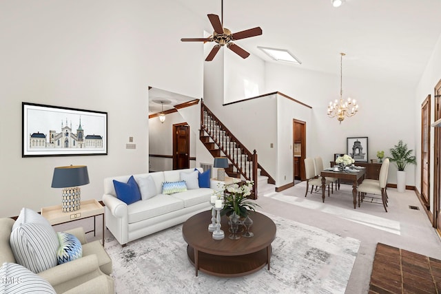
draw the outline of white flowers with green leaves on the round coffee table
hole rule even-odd
[[[254,182],[247,180],[243,184],[232,184],[225,186],[225,204],[220,215],[229,215],[235,212],[240,218],[246,218],[249,211],[256,211],[259,205],[247,198],[251,195]]]

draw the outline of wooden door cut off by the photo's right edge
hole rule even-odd
[[[435,121],[439,120],[441,118],[441,80],[438,82],[438,84],[435,85]],[[441,160],[441,128],[435,127],[434,129],[434,138],[435,138],[435,156],[434,156],[434,163],[435,163],[435,174],[433,175],[434,179],[434,186],[433,186],[433,220],[432,224],[433,227],[438,229],[438,232],[441,229],[441,210],[440,210],[440,203],[441,203],[441,193],[440,193],[440,186],[441,186],[441,167],[440,167],[440,160]]]

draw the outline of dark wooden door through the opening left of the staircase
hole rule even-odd
[[[173,169],[190,167],[190,127],[187,123],[173,125]]]

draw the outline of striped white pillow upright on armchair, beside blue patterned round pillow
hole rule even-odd
[[[17,263],[34,273],[57,266],[60,246],[57,232],[48,220],[32,209],[21,209],[12,226],[10,246]]]

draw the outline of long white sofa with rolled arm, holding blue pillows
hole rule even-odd
[[[156,185],[156,196],[129,205],[116,197],[113,180],[127,182],[132,175],[105,178],[103,202],[107,229],[121,245],[125,246],[127,242],[181,224],[196,213],[209,210],[213,189],[189,189],[170,195],[162,193],[163,182],[179,181],[181,172],[192,171],[194,169],[178,169],[133,175],[135,180],[139,177],[152,176]],[[203,169],[198,168],[198,171],[202,173]]]

